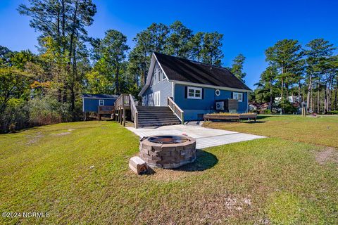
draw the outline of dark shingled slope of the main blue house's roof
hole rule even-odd
[[[251,90],[225,68],[161,53],[154,54],[170,80]]]

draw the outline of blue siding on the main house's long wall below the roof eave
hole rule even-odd
[[[215,112],[215,101],[232,98],[232,91],[220,90],[220,96],[216,96],[215,89],[212,88],[204,87],[203,91],[203,99],[185,98],[185,86],[182,84],[175,84],[174,101],[182,108],[182,110],[184,110],[184,120],[200,120],[201,114]],[[243,101],[238,104],[238,113],[244,113],[247,110],[247,93],[242,93]]]

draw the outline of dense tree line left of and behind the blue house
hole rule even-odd
[[[221,65],[223,34],[193,32],[180,21],[153,23],[132,39],[118,30],[89,37],[92,0],[29,0],[18,13],[39,33],[37,53],[0,46],[0,131],[80,120],[82,93],[137,96],[146,82],[151,53]],[[245,57],[231,70],[244,79]]]

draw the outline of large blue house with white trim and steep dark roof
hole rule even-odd
[[[143,106],[158,107],[168,106],[170,98],[184,111],[184,121],[189,121],[202,120],[206,113],[245,113],[249,92],[226,68],[153,53],[139,96]]]

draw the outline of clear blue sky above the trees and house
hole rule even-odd
[[[224,34],[223,65],[234,56],[246,56],[246,84],[254,88],[265,69],[264,51],[281,39],[298,39],[301,44],[323,37],[338,46],[338,1],[104,1],[97,6],[91,37],[103,37],[108,29],[123,32],[128,44],[151,23],[170,24],[180,20],[194,32]],[[25,0],[0,0],[0,45],[14,51],[36,52],[38,34],[29,18],[16,11]]]

